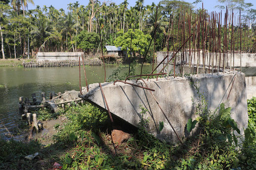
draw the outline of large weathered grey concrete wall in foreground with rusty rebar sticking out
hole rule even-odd
[[[247,127],[247,91],[244,73],[237,73],[232,86],[234,74],[216,75],[204,74],[192,76],[192,80],[200,92],[204,94],[209,102],[209,108],[216,109],[221,102],[225,102],[226,107],[232,108],[231,117],[238,123],[238,127],[243,133],[243,128]],[[134,81],[129,81],[136,84]],[[143,85],[141,82],[138,85]],[[197,90],[191,86],[188,77],[167,77],[150,79],[147,82],[149,88],[155,89],[153,92],[157,101],[166,112],[171,124],[174,126],[180,137],[188,136],[186,123],[189,118],[195,119],[195,107],[192,98],[198,100]],[[161,140],[177,142],[177,137],[173,133],[171,126],[163,116],[157,103],[153,100],[148,90],[134,87],[128,84],[117,82],[102,83],[102,88],[106,96],[111,113],[137,126],[140,121],[140,105],[147,110],[146,118],[149,118],[148,131]],[[227,96],[230,92],[229,99]],[[83,94],[86,93],[83,88]],[[106,109],[105,102],[98,84],[90,84],[89,92],[83,98],[101,108]],[[164,122],[164,129],[159,132],[159,122]]]

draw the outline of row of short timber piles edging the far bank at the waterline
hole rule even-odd
[[[101,61],[99,59],[85,60],[85,65],[87,66],[101,66]],[[24,68],[37,68],[37,67],[75,67],[79,66],[77,61],[48,61],[48,62],[30,62],[22,63]]]

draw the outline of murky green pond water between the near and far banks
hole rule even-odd
[[[112,74],[118,66],[106,66],[106,77]],[[150,71],[149,65],[143,66],[143,71]],[[136,68],[139,73],[140,68]],[[128,68],[122,71],[128,71]],[[103,66],[87,66],[88,84],[104,81]],[[85,86],[84,70],[81,68],[82,86]],[[78,67],[50,67],[50,68],[0,68],[0,134],[4,128],[12,128],[20,118],[18,103],[23,96],[31,100],[35,93],[41,99],[41,93],[48,96],[50,92],[64,92],[65,90],[79,91]]]

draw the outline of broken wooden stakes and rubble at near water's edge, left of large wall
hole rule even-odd
[[[83,99],[78,97],[79,92],[72,90],[72,91],[65,91],[65,93],[61,94],[59,92],[58,94],[55,94],[54,92],[49,94],[49,99],[45,99],[45,94],[42,93],[42,100],[38,101],[36,98],[36,94],[32,94],[32,101],[30,101],[28,98],[20,97],[19,98],[19,113],[21,114],[21,117],[23,119],[27,119],[28,125],[33,125],[38,132],[40,129],[42,129],[41,122],[37,122],[37,114],[31,114],[32,110],[36,110],[42,107],[48,107],[53,112],[58,112],[58,106],[61,106],[64,108],[64,104],[67,104],[68,106],[71,105],[71,102],[74,102],[74,104],[77,104],[78,102],[84,102]],[[33,116],[33,118],[32,118]],[[32,120],[32,121],[31,121]]]

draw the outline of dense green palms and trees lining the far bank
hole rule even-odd
[[[236,9],[243,9],[245,18],[243,21],[245,22],[247,22],[246,17],[251,20],[255,18],[256,10],[244,0],[236,0],[237,3],[235,0],[219,1],[221,5],[228,5],[229,8],[235,5]],[[195,4],[198,2],[200,0],[196,0]],[[91,32],[100,35],[103,46],[116,45],[114,42],[121,39],[118,36],[123,36],[127,32],[130,36],[131,31],[135,35],[139,33],[139,30],[139,34],[146,35],[146,39],[148,39],[148,35],[154,36],[156,16],[158,18],[156,51],[159,51],[166,48],[168,44],[167,33],[170,15],[174,16],[173,21],[175,23],[182,12],[187,11],[191,15],[198,12],[193,3],[181,0],[162,0],[159,4],[152,2],[151,5],[145,5],[144,0],[137,0],[135,5],[130,7],[128,7],[128,0],[124,0],[119,5],[114,2],[100,2],[99,0],[89,0],[86,5],[79,4],[77,1],[69,3],[67,10],[62,8],[58,10],[52,5],[48,7],[45,5],[36,6],[35,9],[26,10],[28,3],[34,4],[33,0],[0,0],[1,58],[4,58],[4,54],[7,58],[25,57],[28,55],[28,51],[30,54],[37,51],[75,52],[85,49],[99,52],[101,49],[98,41],[93,47],[81,46],[81,34],[87,35]],[[174,24],[173,28],[175,33],[175,29],[178,27]],[[83,32],[84,30],[88,33]],[[253,37],[255,34],[250,35]],[[173,46],[171,42],[174,38],[178,37],[170,37],[170,49]],[[253,41],[254,38],[250,39]],[[127,44],[129,43],[127,42]],[[145,47],[135,47],[135,43],[133,44],[133,52],[143,55]],[[148,45],[144,42],[141,44]],[[153,52],[152,48],[150,47],[150,54]]]

